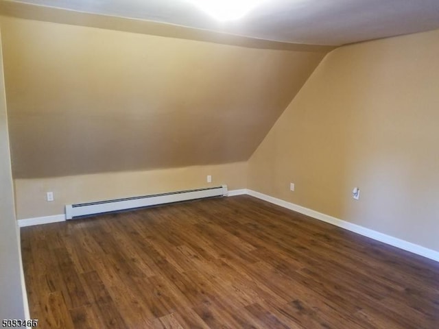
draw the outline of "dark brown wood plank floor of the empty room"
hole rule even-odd
[[[439,328],[439,265],[249,196],[21,229],[38,328]]]

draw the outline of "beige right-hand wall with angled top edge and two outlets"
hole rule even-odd
[[[438,40],[329,53],[250,158],[248,187],[439,251]]]

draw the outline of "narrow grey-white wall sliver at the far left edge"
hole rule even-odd
[[[25,319],[0,43],[0,319]]]

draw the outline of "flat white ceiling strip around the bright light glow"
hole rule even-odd
[[[439,28],[439,0],[267,0],[243,19],[225,23],[186,0],[16,2],[308,45],[345,45]]]

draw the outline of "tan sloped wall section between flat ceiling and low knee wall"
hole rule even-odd
[[[14,178],[246,161],[324,56],[1,18]]]

